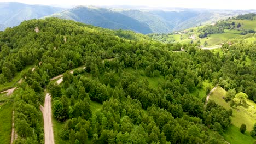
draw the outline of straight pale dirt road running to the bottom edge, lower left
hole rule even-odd
[[[44,143],[54,144],[53,123],[51,122],[51,97],[49,93],[45,96],[44,107],[40,105],[40,110],[44,117]]]

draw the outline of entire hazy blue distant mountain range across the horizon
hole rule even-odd
[[[150,7],[85,7],[71,9],[21,3],[0,3],[0,30],[21,21],[59,17],[109,29],[128,29],[138,33],[170,33],[213,23],[256,10],[214,10]]]

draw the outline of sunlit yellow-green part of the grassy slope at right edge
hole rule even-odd
[[[251,131],[253,124],[256,123],[256,104],[247,99],[246,104],[237,106],[236,108],[230,107],[229,103],[223,99],[226,91],[222,87],[217,87],[215,91],[210,95],[210,99],[214,100],[218,105],[223,106],[225,109],[231,109],[233,115],[231,117],[231,124],[236,127],[241,126],[241,124],[246,124],[247,131]]]

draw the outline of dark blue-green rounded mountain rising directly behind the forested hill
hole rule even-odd
[[[53,14],[50,17],[74,20],[103,28],[130,29],[139,33],[153,32],[147,23],[104,8],[80,6]]]

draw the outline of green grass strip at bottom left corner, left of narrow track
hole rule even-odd
[[[7,102],[0,106],[0,143],[10,143],[13,104]]]

